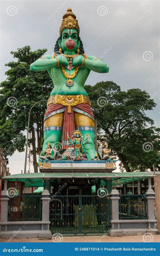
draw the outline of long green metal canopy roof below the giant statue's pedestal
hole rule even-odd
[[[156,173],[155,173],[156,174]],[[9,175],[6,177],[3,177],[4,179],[7,179],[8,181],[22,181],[25,182],[26,187],[31,186],[37,186],[41,187],[43,186],[43,180],[46,178],[111,178],[112,179],[112,185],[121,185],[124,183],[130,183],[133,181],[137,181],[140,179],[146,179],[148,177],[154,177],[155,175],[153,172],[131,172],[131,173],[121,173],[121,172],[108,172],[108,173],[97,173],[97,172],[68,172],[68,173],[60,173],[60,172],[52,172],[52,173],[27,173],[27,174],[14,174]]]

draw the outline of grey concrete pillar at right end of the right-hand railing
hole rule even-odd
[[[147,203],[147,214],[149,220],[155,219],[155,207],[154,207],[154,201],[155,201],[155,192],[152,189],[148,189],[146,192],[146,203]]]

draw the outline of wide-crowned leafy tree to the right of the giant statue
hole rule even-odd
[[[98,139],[109,142],[122,163],[122,170],[127,172],[133,170],[151,168],[151,162],[157,159],[158,149],[152,151],[152,161],[141,161],[140,155],[144,151],[143,143],[151,141],[151,135],[157,143],[159,139],[156,134],[153,120],[145,115],[146,110],[155,107],[153,99],[145,91],[130,89],[127,92],[121,91],[120,86],[112,81],[99,82],[95,86],[86,85],[85,89],[91,100],[91,107],[98,122]],[[151,125],[149,129],[148,125]],[[142,145],[141,145],[142,144]],[[150,166],[150,167],[149,167]]]

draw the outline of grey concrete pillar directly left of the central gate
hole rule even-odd
[[[42,193],[42,221],[49,221],[50,193],[45,189]]]

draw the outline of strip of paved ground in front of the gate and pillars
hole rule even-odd
[[[105,236],[103,239],[101,236],[65,236],[62,238],[62,242],[143,242],[142,236],[123,236],[123,237],[109,237]],[[152,240],[153,239],[153,240]],[[8,239],[0,239],[0,242],[7,242]],[[160,235],[153,235],[151,239],[146,241],[160,242]],[[53,242],[52,239],[12,239],[10,242]]]

